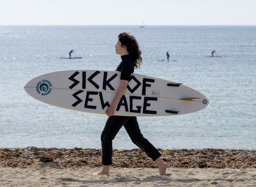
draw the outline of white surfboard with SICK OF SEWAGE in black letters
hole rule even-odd
[[[50,105],[105,114],[120,83],[120,72],[66,70],[30,80],[26,92]],[[209,104],[202,93],[168,80],[132,74],[115,115],[181,115],[204,109]]]

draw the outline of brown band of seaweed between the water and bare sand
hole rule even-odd
[[[173,168],[256,168],[256,150],[158,149]],[[156,168],[141,149],[113,149],[112,167]],[[62,167],[101,166],[101,149],[0,148],[0,167],[28,167],[35,162],[54,161]]]

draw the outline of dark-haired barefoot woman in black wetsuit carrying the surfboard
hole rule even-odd
[[[155,161],[159,169],[159,175],[165,175],[167,164],[162,161],[159,151],[143,137],[136,116],[114,115],[116,105],[126,90],[131,74],[134,69],[140,68],[142,64],[141,51],[134,36],[126,32],[120,33],[115,48],[116,54],[119,54],[122,59],[116,68],[116,71],[121,72],[120,86],[111,105],[106,109],[106,114],[109,117],[101,134],[103,166],[102,170],[94,173],[94,175],[109,174],[110,165],[112,164],[112,141],[122,126],[126,129],[132,142]]]

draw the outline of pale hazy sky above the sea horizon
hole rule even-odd
[[[256,0],[0,0],[0,25],[256,25]]]

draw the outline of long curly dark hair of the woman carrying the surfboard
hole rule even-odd
[[[132,58],[134,69],[137,69],[142,64],[141,51],[137,40],[130,33],[122,32],[118,35],[119,41],[122,46],[126,46],[127,51]]]

